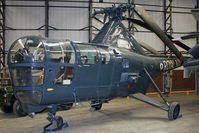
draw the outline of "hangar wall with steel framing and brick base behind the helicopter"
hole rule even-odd
[[[91,42],[103,24],[90,16],[94,10],[102,7],[110,7],[113,4],[134,3],[143,6],[152,16],[155,22],[166,33],[174,38],[197,33],[197,21],[191,14],[191,10],[197,8],[197,0],[1,0],[0,20],[0,76],[1,86],[10,84],[7,67],[7,51],[11,44],[19,37],[26,35],[39,35],[53,39],[80,42]],[[126,16],[136,18],[133,11],[128,11]],[[103,19],[102,16],[101,19]],[[150,31],[131,22],[123,22],[135,37],[149,44],[152,48],[168,54],[168,48]],[[190,47],[197,44],[197,39],[184,41]],[[187,51],[178,49],[186,55]],[[197,75],[183,79],[183,68],[173,72],[159,75],[155,80],[159,88],[164,91],[190,91],[197,87]],[[182,82],[183,81],[183,82]],[[154,89],[150,86],[149,92]]]

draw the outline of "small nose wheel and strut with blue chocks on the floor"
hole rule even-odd
[[[50,122],[48,125],[44,126],[43,133],[47,132],[56,132],[58,130],[61,130],[63,127],[67,128],[68,123],[63,121],[63,118],[61,116],[55,116],[57,106],[50,106],[48,107],[49,113],[47,120]]]

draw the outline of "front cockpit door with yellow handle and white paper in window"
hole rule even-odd
[[[45,42],[45,89],[48,102],[72,102],[75,66],[75,50],[70,42]],[[55,98],[56,97],[56,98]]]

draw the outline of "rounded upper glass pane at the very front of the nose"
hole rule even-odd
[[[44,46],[38,37],[20,38],[10,50],[11,63],[42,62]]]

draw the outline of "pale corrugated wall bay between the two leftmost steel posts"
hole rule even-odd
[[[30,7],[31,5],[44,5],[44,2],[15,2],[6,1],[5,25],[13,29],[37,29],[45,23],[45,8]],[[11,5],[29,5],[27,7],[16,7]],[[43,30],[6,30],[6,50],[17,38],[26,35],[42,35]]]

